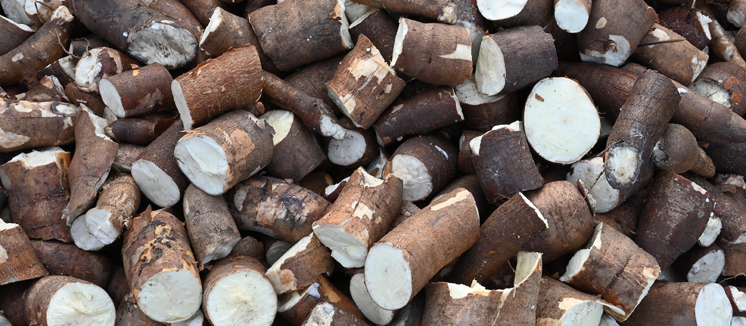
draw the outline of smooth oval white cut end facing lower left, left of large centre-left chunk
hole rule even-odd
[[[142,194],[160,207],[171,207],[181,199],[181,191],[166,172],[155,163],[139,159],[132,164],[132,177]]]

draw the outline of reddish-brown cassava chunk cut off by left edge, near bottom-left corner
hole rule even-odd
[[[18,224],[0,220],[0,285],[49,275]],[[10,291],[10,289],[5,289]]]

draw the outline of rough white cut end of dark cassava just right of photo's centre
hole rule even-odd
[[[404,182],[402,199],[416,202],[430,195],[433,191],[433,179],[424,162],[406,154],[397,154],[391,162],[392,173]]]

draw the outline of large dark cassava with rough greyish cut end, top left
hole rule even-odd
[[[71,1],[89,30],[145,64],[180,68],[197,55],[197,39],[189,29],[140,1]]]

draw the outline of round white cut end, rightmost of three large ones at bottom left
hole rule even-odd
[[[278,297],[259,272],[239,270],[216,282],[205,298],[204,311],[214,326],[269,326]]]

